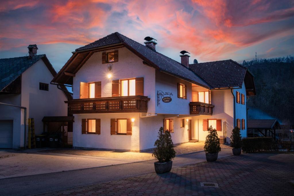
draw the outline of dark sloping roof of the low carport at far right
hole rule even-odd
[[[276,119],[247,119],[247,129],[273,129],[280,127]]]

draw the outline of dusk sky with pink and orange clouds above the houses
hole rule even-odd
[[[294,1],[0,1],[0,58],[27,55],[37,44],[56,71],[76,48],[113,32],[190,63],[293,55]]]

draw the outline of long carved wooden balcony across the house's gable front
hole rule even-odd
[[[127,96],[73,99],[64,102],[68,103],[69,114],[146,113],[149,100],[146,96]]]

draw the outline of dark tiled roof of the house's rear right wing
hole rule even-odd
[[[231,59],[191,64],[189,68],[213,88],[242,87],[247,71]]]

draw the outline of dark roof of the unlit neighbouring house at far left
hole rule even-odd
[[[49,69],[52,76],[56,76],[56,71],[49,62],[46,54],[35,55],[31,59],[29,56],[21,56],[15,58],[1,58],[0,59],[0,91],[2,91],[6,86],[12,83],[16,78],[18,78],[22,73],[24,73],[28,68],[34,65],[40,59],[43,60],[46,67]],[[66,97],[70,100],[72,99],[71,94],[68,90],[61,86]]]

